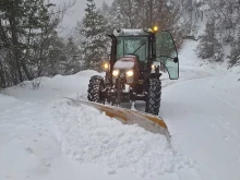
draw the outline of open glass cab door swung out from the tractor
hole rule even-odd
[[[155,36],[156,61],[168,71],[170,80],[179,79],[179,58],[175,40],[169,32],[160,32]]]

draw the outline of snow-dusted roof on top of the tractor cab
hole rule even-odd
[[[140,36],[140,35],[148,35],[148,33],[144,29],[136,28],[121,28],[121,29],[115,29],[113,31],[115,36]]]

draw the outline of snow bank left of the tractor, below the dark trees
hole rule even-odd
[[[32,101],[59,99],[63,96],[85,95],[91,76],[103,75],[96,71],[87,70],[73,75],[56,75],[50,77],[38,77],[32,82],[26,81],[21,85],[8,88],[5,92],[17,99]],[[34,88],[36,87],[36,88]]]

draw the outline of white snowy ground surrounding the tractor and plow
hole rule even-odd
[[[94,71],[2,92],[0,180],[238,180],[240,70],[200,67],[194,46],[187,41],[180,53],[180,80],[163,77],[160,116],[171,148],[160,134],[62,98],[85,97]]]

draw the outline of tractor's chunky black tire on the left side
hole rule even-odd
[[[100,103],[104,100],[101,97],[101,91],[104,89],[104,77],[94,75],[89,80],[87,89],[87,99],[89,101]]]

